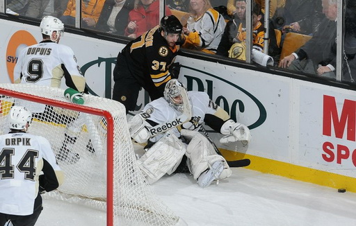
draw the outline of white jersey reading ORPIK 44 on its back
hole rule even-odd
[[[43,171],[51,186],[58,186],[63,172],[49,141],[26,132],[0,136],[0,212],[26,216],[33,214],[38,195],[38,177]]]

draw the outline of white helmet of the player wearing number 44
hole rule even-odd
[[[8,115],[9,128],[13,130],[24,130],[26,123],[31,123],[32,114],[26,107],[14,106]]]

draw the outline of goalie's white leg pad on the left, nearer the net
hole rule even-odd
[[[174,134],[167,133],[137,162],[147,182],[153,184],[165,173],[174,172],[185,153],[185,145]]]

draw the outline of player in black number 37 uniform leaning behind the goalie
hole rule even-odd
[[[182,28],[177,17],[165,16],[159,26],[129,42],[118,54],[113,100],[124,104],[126,112],[135,110],[141,87],[155,100],[163,96],[165,82],[177,78],[179,70],[172,69],[184,42]]]

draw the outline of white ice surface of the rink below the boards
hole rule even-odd
[[[229,179],[205,189],[189,174],[166,176],[152,186],[189,226],[356,225],[356,193],[246,168],[233,168]],[[44,196],[36,225],[104,226],[105,219],[102,211]]]

